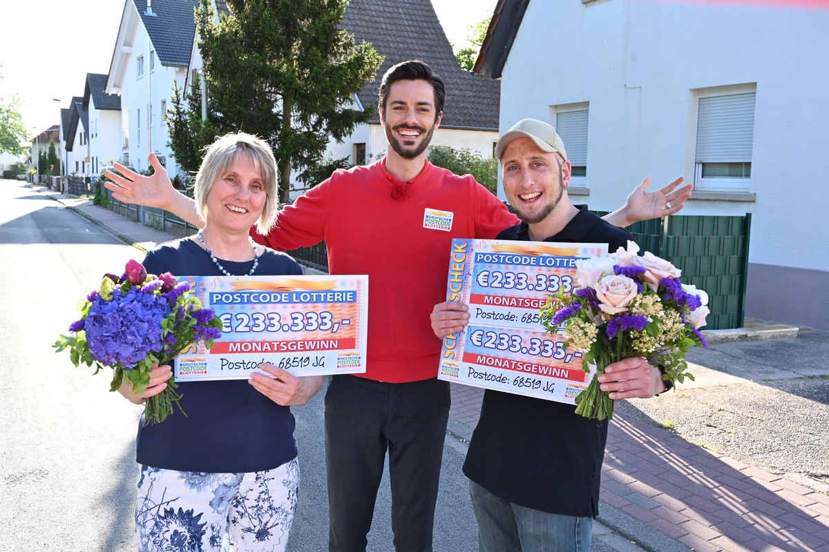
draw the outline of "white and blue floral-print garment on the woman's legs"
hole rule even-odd
[[[142,466],[139,552],[281,552],[297,508],[296,458],[267,472],[197,473]]]

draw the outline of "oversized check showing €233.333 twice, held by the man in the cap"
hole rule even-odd
[[[592,372],[539,310],[572,292],[579,259],[607,254],[606,243],[454,239],[446,298],[469,306],[469,324],[444,338],[438,379],[574,404]]]

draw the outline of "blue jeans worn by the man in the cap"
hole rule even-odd
[[[469,482],[478,520],[479,552],[589,552],[593,518],[560,516],[518,506]]]

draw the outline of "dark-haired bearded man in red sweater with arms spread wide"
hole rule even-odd
[[[325,240],[332,274],[369,275],[366,373],[332,377],[325,397],[329,550],[365,550],[388,452],[395,550],[423,552],[432,550],[449,411],[429,314],[444,300],[452,239],[495,238],[518,219],[472,176],[427,161],[444,105],[444,83],[429,65],[391,67],[379,100],[386,156],[337,170],[286,206],[267,236],[253,235],[282,251]],[[172,188],[152,154],[150,162],[152,177],[107,173],[118,184],[106,183],[114,198],[201,225],[191,199]],[[646,180],[608,219],[627,225],[676,213],[690,195],[688,186],[673,191],[680,181],[648,193]],[[305,385],[296,379],[285,385]]]

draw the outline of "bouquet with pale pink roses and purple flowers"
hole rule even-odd
[[[628,242],[608,257],[577,262],[578,288],[550,295],[541,308],[542,324],[560,333],[583,353],[583,367],[596,367],[589,386],[576,396],[576,414],[613,419],[613,401],[596,379],[604,368],[624,358],[643,357],[662,368],[673,384],[694,380],[685,360],[689,348],[708,343],[700,333],[709,314],[708,295],[686,286],[681,271],[651,252],[638,255]]]

